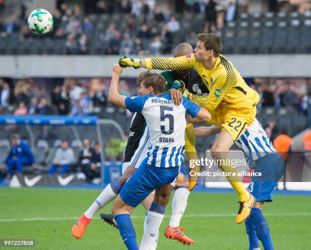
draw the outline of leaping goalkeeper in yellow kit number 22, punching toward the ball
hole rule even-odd
[[[147,58],[130,59],[120,57],[122,67],[148,69],[177,69],[195,68],[209,90],[208,96],[186,93],[190,100],[204,106],[212,115],[209,123],[220,124],[221,132],[211,148],[212,157],[220,164],[225,172],[235,172],[235,168],[225,164],[227,152],[234,142],[255,121],[256,105],[260,100],[258,93],[247,86],[234,65],[220,54],[223,45],[221,39],[212,33],[199,33],[198,43],[194,54],[176,58]],[[174,101],[180,103],[176,92]],[[226,104],[221,103],[225,101]],[[256,200],[244,188],[238,177],[229,175],[228,182],[239,196],[239,210],[236,223],[243,222],[248,216]]]

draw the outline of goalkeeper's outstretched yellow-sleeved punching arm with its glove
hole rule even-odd
[[[195,66],[195,57],[193,55],[180,57],[154,57],[146,59],[128,58],[126,56],[119,57],[119,65],[121,67],[145,67],[148,69],[190,69]]]

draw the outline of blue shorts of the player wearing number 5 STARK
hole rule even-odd
[[[130,206],[138,206],[154,189],[171,184],[179,168],[153,167],[144,160],[129,181],[122,187],[120,197]]]

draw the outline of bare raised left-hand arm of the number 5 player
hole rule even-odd
[[[120,75],[123,72],[123,68],[120,67],[118,64],[113,64],[113,69],[112,69],[112,78],[111,78],[111,83],[110,83],[110,88],[109,88],[109,94],[108,94],[108,99],[111,103],[118,105],[122,108],[126,108],[125,104],[125,99],[126,96],[120,95],[119,94],[119,80],[120,80]]]

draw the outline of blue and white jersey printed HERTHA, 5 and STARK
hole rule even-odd
[[[182,97],[179,106],[171,102],[169,94],[126,98],[127,109],[141,113],[149,130],[150,146],[147,164],[155,167],[176,167],[183,163],[185,114],[193,118],[200,106]]]

